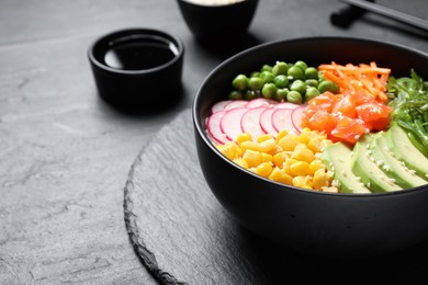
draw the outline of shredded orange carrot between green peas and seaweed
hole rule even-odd
[[[340,92],[364,92],[380,102],[385,102],[386,81],[391,69],[378,67],[376,62],[370,65],[360,64],[358,66],[347,64],[337,65],[335,61],[318,66],[327,80],[336,82]]]

